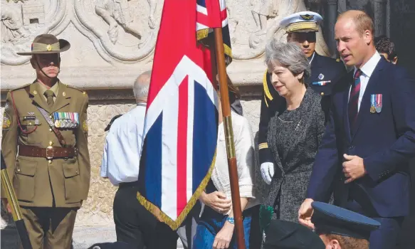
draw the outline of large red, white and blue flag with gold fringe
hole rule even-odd
[[[214,28],[211,23],[204,25]],[[205,189],[216,155],[219,100],[211,51],[198,43],[195,28],[196,0],[164,0],[137,199],[173,230]]]

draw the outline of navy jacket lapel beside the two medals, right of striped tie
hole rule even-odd
[[[376,93],[376,85],[379,81],[381,81],[381,78],[382,78],[381,71],[384,67],[384,63],[387,63],[387,62],[382,59],[379,60],[379,63],[377,63],[376,68],[374,68],[374,71],[369,78],[369,82],[367,83],[366,90],[364,90],[362,102],[360,102],[359,113],[357,114],[356,124],[354,125],[352,140],[356,136],[357,131],[364,120],[364,117],[371,115],[370,95]]]

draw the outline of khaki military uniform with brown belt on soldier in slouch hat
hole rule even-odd
[[[76,211],[90,184],[88,95],[58,81],[50,107],[45,90],[35,82],[7,94],[1,151],[33,248],[70,248]],[[51,127],[36,106],[51,120],[54,112],[78,113],[78,126]]]

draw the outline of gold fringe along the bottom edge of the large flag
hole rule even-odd
[[[163,213],[160,210],[160,208],[155,206],[153,203],[151,203],[150,201],[147,201],[147,199],[144,196],[142,196],[140,194],[140,192],[137,192],[137,200],[150,213],[152,213],[154,216],[156,216],[156,218],[160,222],[166,223],[167,226],[169,226],[170,228],[172,228],[173,231],[175,231],[183,223],[183,221],[186,218],[187,214],[189,214],[189,212],[191,211],[191,208],[193,208],[194,204],[196,204],[196,201],[199,200],[199,196],[201,195],[201,192],[203,192],[204,189],[206,189],[206,186],[207,186],[209,180],[211,179],[211,174],[212,174],[212,171],[214,169],[215,161],[216,161],[216,151],[215,151],[214,158],[212,160],[211,166],[209,167],[208,173],[206,174],[204,179],[201,181],[201,184],[196,189],[193,196],[191,196],[189,202],[186,204],[186,206],[184,207],[184,210],[182,211],[182,213],[180,213],[179,217],[177,217],[176,221],[173,221],[172,218],[167,216],[166,213]]]

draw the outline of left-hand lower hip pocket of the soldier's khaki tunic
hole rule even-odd
[[[33,201],[37,166],[37,161],[17,158],[13,186],[21,201]]]

